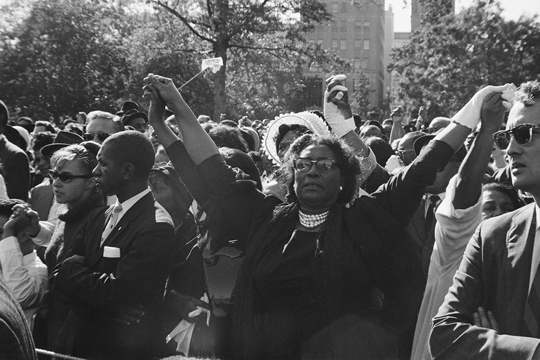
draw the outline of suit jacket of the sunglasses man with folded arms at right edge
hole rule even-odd
[[[454,284],[433,319],[435,358],[529,359],[540,339],[523,337],[534,244],[535,204],[481,223],[470,240]],[[491,310],[500,333],[480,328],[473,313]]]

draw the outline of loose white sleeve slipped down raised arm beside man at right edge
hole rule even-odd
[[[441,266],[463,256],[467,243],[482,219],[482,193],[475,205],[467,209],[454,208],[456,182],[457,175],[454,175],[448,183],[446,197],[435,212],[435,244]]]

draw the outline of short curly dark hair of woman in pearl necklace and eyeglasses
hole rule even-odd
[[[291,145],[291,149],[279,169],[279,177],[283,184],[287,184],[287,200],[296,201],[294,193],[294,165],[293,162],[299,158],[300,153],[310,145],[325,145],[336,155],[336,162],[341,171],[341,176],[345,180],[343,189],[338,195],[338,202],[346,203],[353,199],[360,187],[358,178],[360,175],[360,163],[353,150],[342,139],[316,134],[304,134],[296,139]]]

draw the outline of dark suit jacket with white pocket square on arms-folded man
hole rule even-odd
[[[159,329],[165,280],[176,249],[172,220],[148,193],[100,246],[111,211],[112,207],[98,209],[81,226],[67,256],[82,255],[84,264],[68,258],[57,267],[51,275],[53,292],[75,305],[79,320],[74,355],[150,358],[158,355],[166,335]],[[120,257],[104,257],[104,246],[119,248]],[[145,311],[139,324],[113,320],[138,304]]]

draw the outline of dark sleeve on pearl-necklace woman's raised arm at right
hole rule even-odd
[[[431,141],[416,160],[403,172],[392,176],[371,196],[385,208],[401,226],[407,227],[440,168],[448,164],[454,152],[443,141]]]

